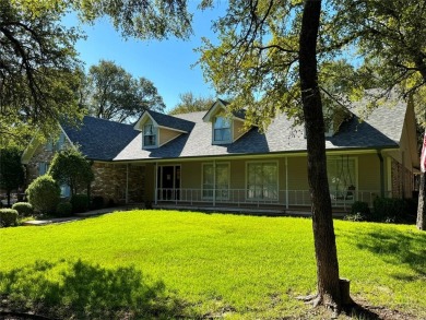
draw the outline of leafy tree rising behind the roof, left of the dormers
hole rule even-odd
[[[100,60],[87,74],[88,114],[97,118],[129,122],[144,110],[163,111],[165,105],[154,84],[144,79],[133,79],[113,61]]]

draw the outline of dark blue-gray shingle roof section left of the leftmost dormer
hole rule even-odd
[[[137,135],[131,125],[84,117],[80,128],[61,125],[73,144],[90,159],[114,159]]]

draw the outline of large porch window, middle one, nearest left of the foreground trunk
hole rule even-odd
[[[247,164],[247,198],[279,200],[277,174],[275,162]]]

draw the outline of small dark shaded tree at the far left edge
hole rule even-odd
[[[8,205],[11,192],[24,185],[25,173],[21,154],[22,151],[17,147],[0,149],[0,188],[8,194]]]

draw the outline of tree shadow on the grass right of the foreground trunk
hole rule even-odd
[[[393,274],[395,278],[412,281],[426,276],[426,233],[402,232],[394,228],[376,228],[346,233],[350,242],[368,250],[390,264],[405,264],[416,276]]]

